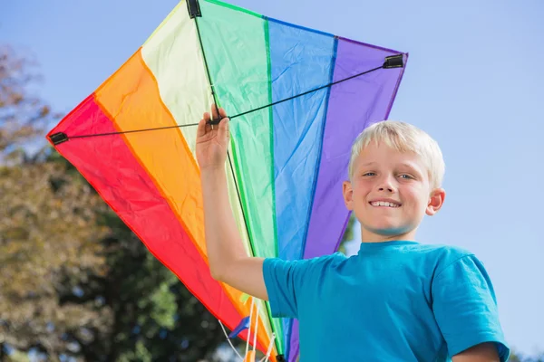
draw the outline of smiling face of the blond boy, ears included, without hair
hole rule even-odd
[[[423,159],[371,142],[344,183],[345,205],[361,223],[364,242],[413,240],[424,214],[442,207],[445,192],[431,189]]]

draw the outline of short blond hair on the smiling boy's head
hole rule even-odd
[[[384,142],[400,152],[413,152],[423,158],[432,188],[442,186],[445,172],[442,151],[438,143],[422,129],[400,121],[385,120],[364,129],[355,139],[349,160],[349,177],[354,176],[355,159],[374,141]]]

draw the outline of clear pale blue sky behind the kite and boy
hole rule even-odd
[[[429,132],[446,203],[422,243],[485,263],[512,347],[544,350],[544,2],[233,0],[260,14],[410,52],[390,119]],[[174,0],[9,1],[0,42],[34,54],[55,110],[72,110],[125,62]]]

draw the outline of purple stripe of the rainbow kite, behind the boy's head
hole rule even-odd
[[[374,69],[384,63],[386,56],[398,53],[341,38],[334,81]],[[349,217],[342,184],[348,179],[351,146],[367,126],[387,119],[403,71],[404,68],[381,69],[331,88],[305,259],[335,252],[342,239]],[[299,351],[298,320],[292,328],[289,362],[296,360]]]

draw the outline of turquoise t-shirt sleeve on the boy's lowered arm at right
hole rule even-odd
[[[482,263],[467,255],[432,281],[432,310],[451,356],[484,342],[493,342],[501,361],[508,348],[500,327],[491,279]]]

